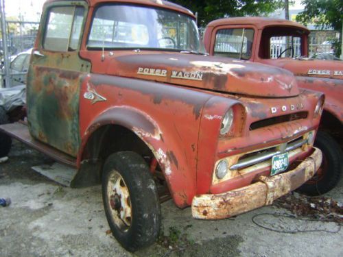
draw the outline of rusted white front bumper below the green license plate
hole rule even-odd
[[[217,195],[196,195],[192,215],[196,219],[224,219],[270,205],[275,199],[295,190],[309,180],[322,163],[322,152],[313,154],[293,169],[273,177],[260,177],[259,182]]]

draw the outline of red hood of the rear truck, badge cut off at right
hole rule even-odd
[[[292,71],[300,77],[327,77],[331,79],[343,79],[343,62],[332,60],[313,60],[309,58],[283,58],[266,60],[265,64],[278,66]]]

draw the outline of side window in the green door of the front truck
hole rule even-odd
[[[43,41],[44,49],[51,51],[78,49],[83,19],[84,8],[81,6],[51,8]]]

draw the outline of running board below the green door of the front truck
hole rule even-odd
[[[46,154],[50,158],[60,162],[62,164],[66,164],[69,167],[76,168],[76,158],[64,154],[62,151],[55,149],[54,147],[50,147],[45,143],[41,143],[38,140],[34,139],[29,134],[29,128],[27,125],[17,122],[17,123],[10,123],[5,125],[0,125],[0,132],[4,132],[8,134],[12,138],[15,138],[25,145],[32,147],[43,154]]]

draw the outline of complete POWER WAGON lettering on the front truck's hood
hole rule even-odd
[[[137,74],[158,77],[167,77],[168,71],[165,69],[153,69],[139,67]],[[202,72],[171,71],[170,77],[173,79],[191,79],[202,81]]]

